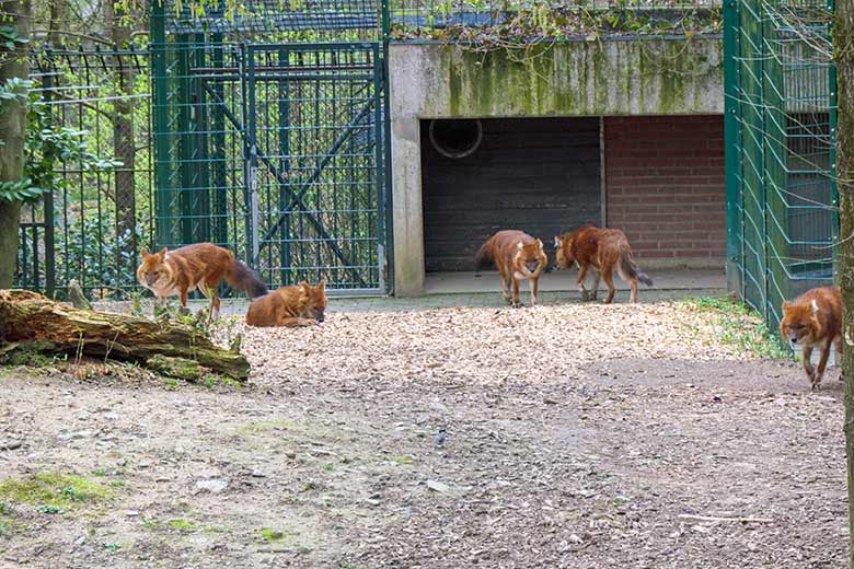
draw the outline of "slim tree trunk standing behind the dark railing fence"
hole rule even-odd
[[[114,49],[127,49],[130,45],[127,14],[118,3],[104,2],[104,20],[109,25],[109,38]],[[116,69],[115,82],[119,96],[134,92],[136,71],[131,58],[114,56]],[[137,200],[136,200],[136,148],[134,146],[134,104],[132,98],[116,98],[113,103],[113,154],[122,162],[116,170],[116,230],[122,252],[119,266],[125,262],[132,266],[122,267],[122,272],[132,274],[137,251]],[[126,260],[129,259],[129,260]],[[129,269],[129,271],[128,271]],[[132,282],[131,282],[132,283]]]

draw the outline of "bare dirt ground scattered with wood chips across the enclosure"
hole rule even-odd
[[[0,567],[845,565],[835,368],[810,393],[667,300],[495,300],[226,326],[244,387],[4,370]],[[44,473],[105,491],[14,499]]]

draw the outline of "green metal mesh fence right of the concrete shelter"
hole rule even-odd
[[[728,280],[775,327],[781,305],[834,280],[832,4],[725,7]]]

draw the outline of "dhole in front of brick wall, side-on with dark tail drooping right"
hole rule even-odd
[[[641,271],[632,258],[628,240],[619,229],[581,228],[556,236],[554,246],[556,268],[568,269],[574,263],[578,264],[578,290],[581,291],[584,300],[596,300],[601,276],[608,284],[604,302],[610,303],[614,299],[614,270],[632,286],[632,302],[637,302],[638,280],[648,287],[653,286],[653,280]],[[585,279],[590,267],[595,272],[592,292],[585,289]]]

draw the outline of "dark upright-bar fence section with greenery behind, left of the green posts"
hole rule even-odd
[[[31,68],[49,126],[120,165],[55,156],[60,187],[22,212],[16,283],[61,295],[74,279],[93,298],[122,297],[153,229],[148,51],[45,47]]]

